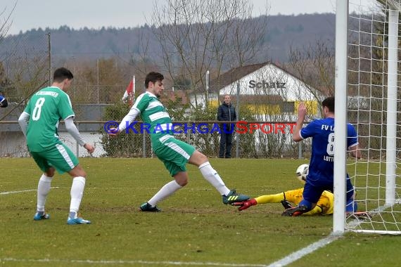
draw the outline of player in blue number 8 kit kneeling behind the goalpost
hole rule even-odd
[[[304,185],[303,200],[297,207],[286,209],[283,216],[298,216],[316,206],[324,190],[333,192],[334,176],[334,98],[326,98],[322,102],[324,119],[315,119],[303,128],[306,116],[305,103],[298,106],[298,119],[293,133],[293,141],[299,142],[312,137],[312,156],[309,174]],[[348,123],[347,148],[352,157],[360,158],[357,131]],[[354,200],[354,187],[347,174],[347,212],[357,211]],[[354,204],[352,204],[354,203]]]

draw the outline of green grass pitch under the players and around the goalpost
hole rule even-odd
[[[332,216],[282,217],[281,204],[239,212],[188,166],[189,184],[142,213],[170,177],[158,159],[80,159],[82,216],[68,226],[70,176],[56,174],[51,219],[33,221],[41,172],[33,159],[0,159],[1,266],[269,266],[331,233]],[[229,188],[256,197],[300,188],[295,159],[211,159]],[[21,192],[22,191],[22,192]],[[7,194],[5,194],[7,193]],[[346,233],[288,266],[397,266],[401,237]],[[398,256],[397,256],[398,255]]]

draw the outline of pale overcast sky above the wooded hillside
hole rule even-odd
[[[33,28],[58,28],[67,25],[76,30],[83,27],[136,27],[144,25],[151,15],[153,0],[1,0],[0,25],[11,13],[8,34]],[[159,0],[162,5],[165,0]],[[253,0],[254,15],[269,6],[269,15],[302,13],[333,13],[335,0]]]

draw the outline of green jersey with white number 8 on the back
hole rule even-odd
[[[44,151],[57,143],[58,122],[74,117],[70,97],[56,86],[34,93],[24,112],[30,115],[27,126],[27,146],[30,151]]]

